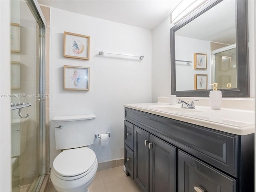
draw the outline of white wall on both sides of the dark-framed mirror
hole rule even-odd
[[[250,97],[255,96],[255,30],[254,30],[254,0],[248,0],[248,36],[250,63]],[[170,80],[170,16],[164,19],[152,30],[152,102],[157,102],[158,96],[168,96],[171,93]]]

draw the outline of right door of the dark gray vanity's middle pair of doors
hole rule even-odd
[[[176,148],[150,135],[150,192],[176,192]]]

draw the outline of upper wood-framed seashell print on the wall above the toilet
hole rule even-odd
[[[90,36],[64,31],[64,57],[90,59]]]

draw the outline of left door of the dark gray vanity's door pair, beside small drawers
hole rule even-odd
[[[148,132],[134,126],[134,180],[142,191],[149,191]]]

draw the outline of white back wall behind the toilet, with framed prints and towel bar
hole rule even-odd
[[[50,118],[62,115],[95,114],[95,132],[111,132],[109,146],[91,148],[98,162],[124,157],[125,103],[151,102],[151,31],[50,9]],[[63,57],[64,31],[90,36],[90,60]],[[99,55],[99,51],[144,55]],[[90,67],[90,90],[63,90],[63,65]],[[50,126],[50,166],[55,150],[53,123]]]

